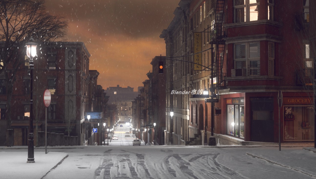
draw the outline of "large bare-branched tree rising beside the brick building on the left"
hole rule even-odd
[[[3,74],[6,80],[7,129],[11,129],[10,103],[13,84],[16,80],[15,74],[24,62],[25,43],[30,37],[35,41],[55,41],[66,35],[67,22],[60,16],[48,14],[43,6],[44,2],[44,0],[1,0],[0,3],[2,47],[0,74]]]

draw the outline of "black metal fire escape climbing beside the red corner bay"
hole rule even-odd
[[[223,37],[226,34],[222,31],[223,17],[224,17],[224,0],[217,0],[215,6],[215,23],[214,30],[215,36],[213,38],[213,44],[215,44],[215,73],[216,73],[216,88],[221,89],[225,87],[224,77],[226,73],[223,73],[223,63],[225,54],[225,40]]]

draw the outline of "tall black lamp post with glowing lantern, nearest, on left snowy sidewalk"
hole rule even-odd
[[[33,37],[31,39],[33,41]],[[30,58],[30,118],[28,132],[28,148],[27,148],[27,163],[34,163],[34,131],[33,131],[33,58],[36,56],[37,44],[34,42],[26,43],[26,55]]]

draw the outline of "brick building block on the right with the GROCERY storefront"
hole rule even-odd
[[[165,143],[207,144],[212,132],[224,145],[277,143],[279,113],[281,142],[313,142],[315,7],[310,0],[179,1],[160,35]],[[200,89],[209,96],[181,93]]]

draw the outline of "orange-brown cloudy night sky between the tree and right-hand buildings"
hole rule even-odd
[[[151,60],[166,54],[159,38],[180,0],[46,0],[50,14],[69,22],[66,41],[84,42],[90,70],[103,89],[143,86]]]

